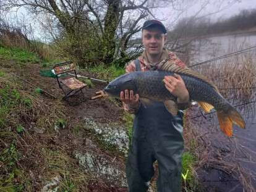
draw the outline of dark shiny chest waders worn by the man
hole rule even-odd
[[[138,62],[136,70],[140,70]],[[126,166],[130,192],[147,191],[156,160],[159,168],[158,191],[181,192],[184,148],[182,117],[181,111],[173,117],[163,102],[141,105],[134,119],[132,145]]]

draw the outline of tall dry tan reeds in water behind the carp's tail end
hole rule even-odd
[[[210,78],[220,93],[234,104],[253,99],[256,86],[254,53],[199,65],[197,71]]]

